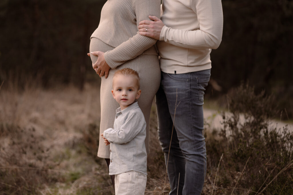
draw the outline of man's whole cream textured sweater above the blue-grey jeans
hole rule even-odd
[[[221,0],[163,0],[161,20],[165,26],[157,46],[163,72],[180,74],[212,67],[209,54],[222,40]]]

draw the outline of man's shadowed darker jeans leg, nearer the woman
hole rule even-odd
[[[170,181],[170,195],[182,194],[184,185],[184,175],[185,175],[185,158],[179,147],[179,141],[177,138],[176,130],[174,128],[172,135],[173,121],[168,109],[168,103],[166,100],[165,93],[160,87],[156,94],[156,106],[158,115],[158,135],[162,150],[165,156],[165,163],[167,167],[168,177]],[[174,116],[173,116],[174,117]],[[172,136],[172,141],[171,141]],[[169,147],[171,141],[171,148],[169,154]],[[168,159],[169,154],[169,159]],[[168,163],[168,164],[167,164]],[[178,187],[178,177],[180,173],[179,189]]]

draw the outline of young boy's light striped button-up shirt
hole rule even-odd
[[[117,108],[114,129],[104,131],[110,142],[109,175],[137,171],[147,175],[146,122],[137,102]]]

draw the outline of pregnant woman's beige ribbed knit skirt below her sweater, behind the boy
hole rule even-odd
[[[105,44],[97,38],[91,38],[90,52],[91,51],[110,51],[114,47]],[[97,61],[97,56],[91,55],[93,63]],[[144,118],[147,123],[146,127],[146,139],[145,145],[147,153],[149,153],[149,116],[151,111],[151,104],[154,96],[159,88],[161,71],[159,66],[159,60],[157,55],[139,55],[136,58],[126,61],[117,68],[110,69],[108,78],[101,77],[101,88],[100,88],[100,103],[101,103],[101,121],[100,121],[100,134],[108,128],[113,128],[116,109],[119,104],[115,101],[111,94],[112,89],[112,78],[116,70],[122,68],[132,68],[136,70],[140,77],[140,89],[142,94],[138,99],[138,104]],[[106,146],[103,138],[100,137],[98,156],[101,158],[110,158],[110,146]]]

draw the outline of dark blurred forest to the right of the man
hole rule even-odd
[[[249,82],[256,92],[274,93],[280,109],[292,114],[293,1],[222,0],[222,5],[223,38],[211,53],[212,79],[221,93]]]

